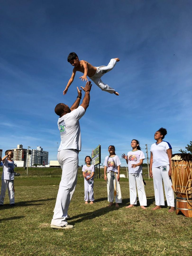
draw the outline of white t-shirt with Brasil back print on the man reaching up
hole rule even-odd
[[[81,131],[79,119],[84,115],[82,106],[72,110],[58,119],[58,129],[61,136],[61,143],[58,151],[66,149],[81,150]]]

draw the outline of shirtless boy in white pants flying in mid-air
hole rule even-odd
[[[69,86],[72,84],[73,79],[75,77],[76,71],[80,71],[84,73],[81,76],[81,80],[87,80],[87,76],[102,90],[109,93],[114,93],[115,95],[119,95],[113,88],[109,87],[108,84],[102,82],[101,77],[114,68],[117,61],[120,61],[119,58],[111,59],[107,66],[93,67],[89,62],[85,60],[79,60],[77,54],[75,52],[71,52],[67,58],[67,61],[74,67],[73,73],[69,82],[63,91],[63,95],[65,95],[68,91]]]

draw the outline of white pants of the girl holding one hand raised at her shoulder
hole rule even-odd
[[[136,190],[137,184],[137,190]],[[145,189],[143,185],[143,177],[141,173],[129,173],[129,192],[130,192],[130,204],[137,204],[137,193],[140,205],[147,205],[147,198],[145,195]]]

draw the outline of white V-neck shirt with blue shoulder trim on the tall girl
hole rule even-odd
[[[172,149],[172,147],[166,141],[162,141],[158,144],[154,143],[154,144],[151,145],[150,151],[153,154],[152,168],[169,165],[169,158],[168,158],[168,155],[167,155],[167,149]]]

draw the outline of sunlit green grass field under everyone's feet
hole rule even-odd
[[[0,208],[0,255],[191,255],[192,219],[168,213],[167,207],[152,211],[155,206],[152,179],[144,176],[146,210],[139,206],[125,208],[129,204],[126,178],[120,180],[121,207],[108,208],[103,179],[95,179],[94,204],[84,204],[84,181],[79,170],[69,207],[69,224],[74,228],[54,230],[50,222],[61,169],[47,170],[47,176],[43,176],[46,170],[38,169],[36,174],[34,170],[32,174],[31,169],[29,174],[35,176],[25,177],[16,168],[22,177],[15,177],[15,207],[9,206],[6,193]]]

